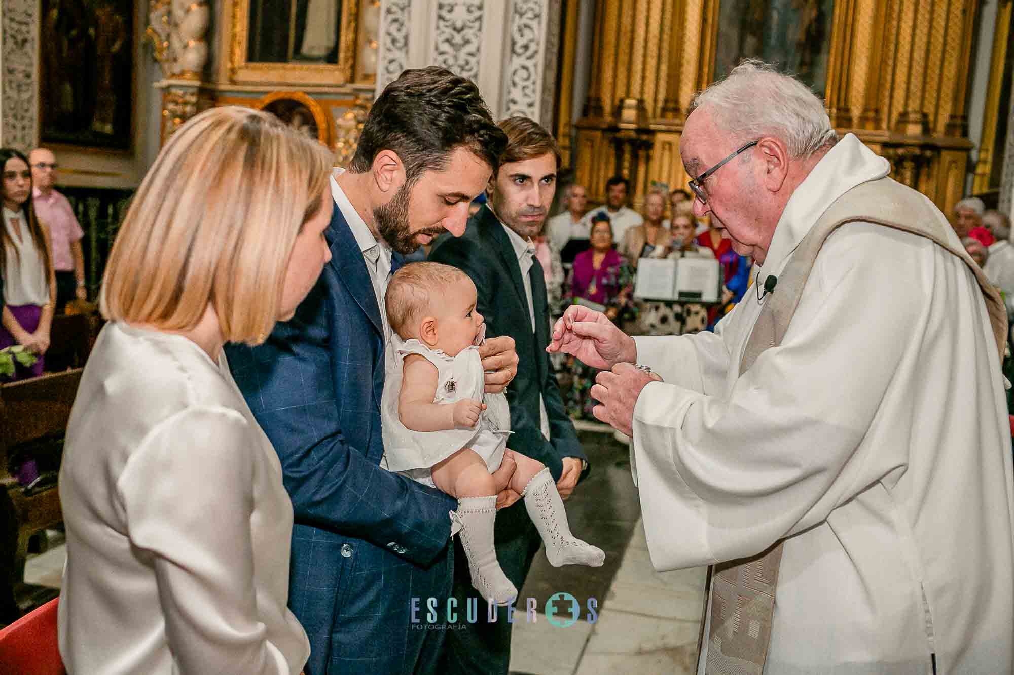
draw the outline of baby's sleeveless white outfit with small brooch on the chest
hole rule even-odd
[[[386,372],[380,419],[383,431],[384,464],[414,480],[435,488],[431,469],[461,448],[472,448],[486,461],[492,473],[500,468],[510,436],[510,407],[502,393],[486,394],[482,359],[476,346],[461,350],[457,356],[447,356],[442,350],[431,350],[416,339],[403,341],[391,334],[387,343]],[[418,432],[402,424],[397,415],[397,399],[402,392],[405,357],[418,354],[437,368],[435,403],[454,403],[472,398],[486,403],[486,409],[474,429],[448,429]]]

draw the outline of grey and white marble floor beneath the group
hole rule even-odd
[[[512,675],[694,672],[705,571],[658,573],[652,568],[628,448],[603,427],[578,424],[592,471],[567,502],[567,511],[574,532],[605,551],[605,565],[553,568],[539,551],[520,593],[535,598],[537,613],[529,621],[523,608],[515,610]],[[55,545],[49,550],[29,557],[26,583],[60,587],[62,535],[53,533],[51,540]],[[547,600],[561,592],[579,603],[579,618],[571,625],[557,615],[552,622],[545,613]],[[587,610],[589,599],[596,603],[594,617]],[[563,609],[566,618],[566,607],[558,603],[554,608]]]

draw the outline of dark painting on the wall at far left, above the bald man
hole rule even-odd
[[[42,0],[43,143],[132,148],[134,4],[133,0]]]

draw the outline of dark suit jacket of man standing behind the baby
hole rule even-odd
[[[546,280],[538,260],[532,261],[531,300],[535,309],[535,331],[528,315],[528,299],[517,255],[503,225],[489,207],[483,206],[468,220],[464,235],[441,238],[429,259],[462,270],[476,284],[478,309],[486,319],[490,338],[510,335],[516,344],[517,376],[507,387],[512,450],[528,455],[550,467],[560,478],[564,457],[585,460],[574,424],[564,409],[556,375],[546,347],[550,344],[550,310]],[[538,394],[542,394],[550,419],[550,440],[539,431]]]

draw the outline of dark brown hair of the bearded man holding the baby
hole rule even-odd
[[[391,150],[411,184],[423,171],[444,168],[448,155],[462,146],[496,171],[506,145],[476,83],[430,66],[407,70],[384,88],[366,118],[349,168],[365,173],[377,154]]]

